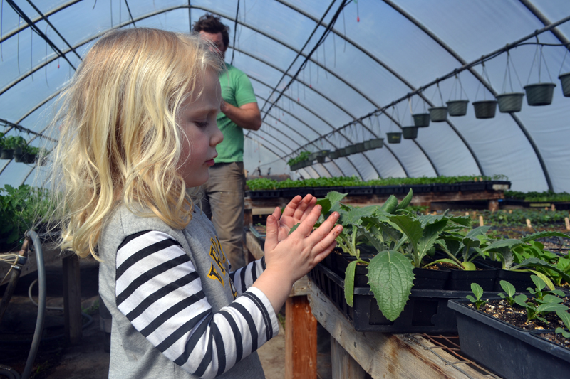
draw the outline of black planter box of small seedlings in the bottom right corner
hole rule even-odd
[[[570,350],[450,300],[456,311],[462,353],[504,379],[568,378]]]

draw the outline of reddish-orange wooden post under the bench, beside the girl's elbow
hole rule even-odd
[[[306,295],[285,303],[285,379],[316,379],[316,319]]]

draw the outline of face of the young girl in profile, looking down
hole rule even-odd
[[[178,125],[182,131],[182,156],[178,174],[184,178],[187,187],[197,187],[206,183],[208,169],[214,166],[218,155],[216,145],[224,135],[219,131],[216,117],[222,90],[218,75],[208,71],[202,82],[202,95],[197,99],[188,97],[180,105]],[[200,88],[196,89],[199,92]]]

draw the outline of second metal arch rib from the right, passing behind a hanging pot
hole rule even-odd
[[[391,0],[383,0],[383,1],[385,2],[385,4],[388,4],[388,6],[392,7],[399,14],[401,14],[402,16],[407,18],[411,23],[413,23],[415,26],[417,26],[421,31],[426,33],[427,36],[432,38],[432,40],[435,41],[435,43],[440,45],[444,50],[447,51],[447,53],[450,53],[450,55],[452,55],[453,58],[457,59],[457,61],[459,61],[462,65],[467,65],[467,62],[455,50],[450,48],[450,46],[447,46],[447,43],[443,42],[439,37],[437,37],[432,31],[430,31],[426,26],[424,26],[423,23],[420,23],[420,21],[413,18],[406,11],[401,9],[399,6],[395,5]],[[537,17],[536,14],[534,14],[534,16]],[[477,73],[477,71],[475,71],[475,69],[470,67],[467,70],[469,70],[470,73],[472,73],[472,75],[474,75],[475,78],[477,78],[477,80],[479,80],[481,82],[481,84],[484,85],[487,88],[487,90],[489,90],[489,92],[492,93],[493,96],[497,96],[497,92],[494,90],[492,85],[487,83],[487,81],[484,80],[484,78],[482,78],[482,76],[479,73]],[[549,175],[548,169],[546,168],[546,164],[544,163],[544,159],[542,159],[542,155],[540,154],[538,146],[534,143],[534,139],[532,139],[532,136],[529,134],[527,128],[524,127],[524,124],[519,119],[519,117],[517,117],[517,115],[514,113],[509,113],[509,114],[511,115],[514,122],[517,123],[517,125],[519,126],[519,128],[523,132],[524,136],[527,137],[529,144],[532,146],[532,149],[534,150],[534,154],[536,154],[537,159],[539,160],[539,164],[542,168],[544,178],[546,179],[546,184],[548,185],[549,190],[554,191],[554,188],[552,186],[552,182],[550,180],[550,175]]]

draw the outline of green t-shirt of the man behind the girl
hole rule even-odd
[[[247,75],[234,66],[226,63],[227,71],[219,74],[219,85],[222,87],[224,101],[234,107],[241,107],[250,102],[257,102],[252,83]],[[224,134],[224,141],[216,146],[219,162],[241,162],[244,160],[244,129],[238,127],[225,114],[217,116],[219,129]]]

